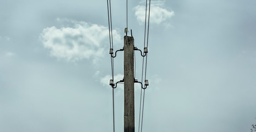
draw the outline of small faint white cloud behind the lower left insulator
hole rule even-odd
[[[112,76],[106,75],[106,76],[104,76],[104,78],[101,78],[100,83],[102,85],[110,86],[110,79],[112,79]],[[120,81],[120,80],[123,80],[123,75],[122,74],[117,74],[117,75],[114,76],[114,83],[116,83],[117,81]],[[117,84],[117,87],[123,89],[122,84]]]

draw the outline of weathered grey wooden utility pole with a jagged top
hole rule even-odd
[[[134,38],[124,36],[124,132],[134,132]]]

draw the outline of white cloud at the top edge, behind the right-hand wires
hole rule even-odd
[[[149,4],[148,4],[149,5]],[[160,24],[170,19],[175,13],[163,8],[164,1],[153,1],[150,5],[150,24]],[[140,24],[145,23],[145,5],[137,5],[135,15]],[[149,8],[147,8],[148,16]],[[147,19],[148,20],[148,19]]]

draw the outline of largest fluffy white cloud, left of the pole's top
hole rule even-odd
[[[108,52],[108,27],[85,21],[57,21],[67,23],[68,26],[46,27],[40,34],[40,40],[43,46],[50,50],[51,56],[71,62],[81,59],[92,59],[96,62]],[[113,30],[113,40],[121,42],[121,36],[116,30]]]

